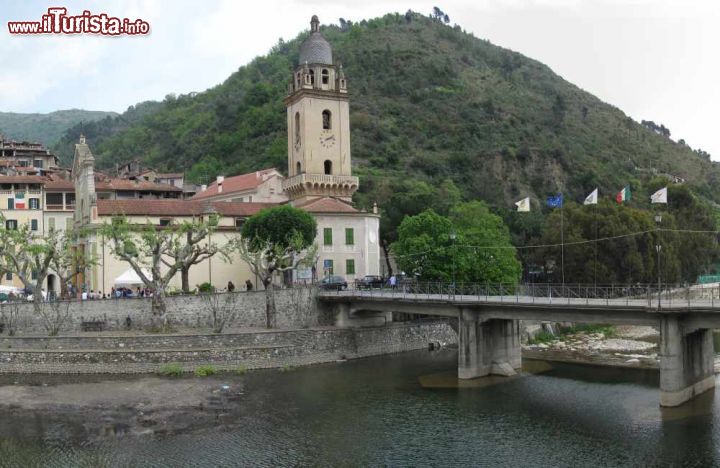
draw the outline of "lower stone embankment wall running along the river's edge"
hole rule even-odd
[[[0,338],[0,373],[141,373],[164,364],[191,371],[257,369],[334,362],[457,343],[447,320],[382,327],[268,330],[222,335]]]

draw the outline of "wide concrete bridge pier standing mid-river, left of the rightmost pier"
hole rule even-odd
[[[458,378],[515,375],[522,366],[520,321],[481,320],[463,310],[458,320]]]

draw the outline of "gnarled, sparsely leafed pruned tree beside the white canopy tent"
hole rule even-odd
[[[229,252],[230,245],[221,247],[212,242],[210,234],[217,224],[218,217],[214,214],[207,219],[172,222],[167,226],[149,222],[134,225],[126,217],[118,216],[100,230],[110,241],[110,252],[127,262],[153,291],[153,327],[167,329],[169,326],[165,317],[165,292],[178,272],[184,272],[183,282],[187,283],[187,271],[192,265]]]

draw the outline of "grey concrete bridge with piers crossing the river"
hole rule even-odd
[[[520,320],[651,325],[660,329],[660,404],[678,406],[715,386],[712,329],[720,288],[405,287],[323,291],[340,327],[383,324],[392,312],[451,317],[458,324],[458,378],[513,375]],[[501,294],[498,294],[501,293]]]

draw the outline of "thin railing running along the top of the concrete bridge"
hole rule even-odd
[[[348,284],[324,294],[400,297],[442,301],[516,302],[538,304],[626,305],[644,307],[720,308],[720,283],[676,285],[598,285],[555,283],[446,283],[401,281],[395,286]]]

